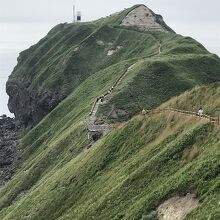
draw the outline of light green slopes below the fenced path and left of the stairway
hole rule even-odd
[[[22,139],[20,167],[0,190],[1,219],[141,219],[187,193],[199,200],[187,219],[219,218],[217,124],[176,113],[138,115],[86,149],[89,100],[121,69],[91,76]],[[205,106],[219,88],[207,87]]]

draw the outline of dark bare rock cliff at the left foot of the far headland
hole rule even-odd
[[[30,83],[21,83],[9,79],[6,84],[9,95],[8,108],[25,128],[31,128],[52,111],[65,96],[58,93],[37,94]]]

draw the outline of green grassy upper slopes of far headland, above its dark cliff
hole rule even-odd
[[[186,54],[208,55],[195,40],[173,32],[140,32],[120,27],[119,21],[134,7],[105,18],[105,22],[57,25],[45,38],[20,54],[10,80],[25,83],[30,93],[47,92],[66,97],[101,69],[127,59],[157,56],[160,43],[164,56],[178,55],[181,59],[181,55]],[[110,50],[116,52],[108,56]],[[219,63],[216,59],[212,62]],[[197,62],[196,56],[194,62]],[[193,66],[191,71],[194,72]]]

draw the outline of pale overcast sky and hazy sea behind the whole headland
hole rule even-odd
[[[219,0],[0,0],[0,115],[9,114],[5,83],[20,51],[38,42],[56,24],[72,21],[72,6],[83,21],[145,4],[177,33],[191,36],[220,55]]]

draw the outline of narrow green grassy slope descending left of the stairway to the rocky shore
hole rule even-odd
[[[10,203],[22,191],[36,184],[43,177],[42,175],[50,172],[57,163],[62,165],[63,160],[68,161],[82,152],[88,144],[84,125],[85,116],[95,97],[110,87],[125,70],[126,65],[128,63],[121,63],[91,76],[21,140],[21,172],[11,182],[12,185],[16,183],[15,192],[8,191],[7,187],[3,191],[4,204]],[[78,135],[80,137],[76,138]],[[11,185],[9,184],[8,187],[10,188]]]

